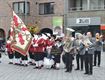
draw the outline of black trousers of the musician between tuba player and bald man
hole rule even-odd
[[[80,67],[81,67],[81,70],[83,70],[84,55],[77,54],[76,62],[77,62],[77,69],[80,69]]]

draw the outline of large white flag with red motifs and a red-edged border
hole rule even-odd
[[[28,31],[24,22],[13,11],[13,19],[11,21],[10,39],[12,40],[11,48],[22,55],[27,55],[27,51],[31,45],[31,33]]]

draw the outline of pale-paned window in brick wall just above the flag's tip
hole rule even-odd
[[[14,2],[13,9],[17,14],[29,14],[30,3],[29,2]]]

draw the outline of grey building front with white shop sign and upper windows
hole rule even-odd
[[[96,33],[104,24],[105,0],[65,0],[65,26]]]

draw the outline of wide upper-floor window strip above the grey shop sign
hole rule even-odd
[[[105,0],[69,0],[70,10],[102,10],[105,9]]]

